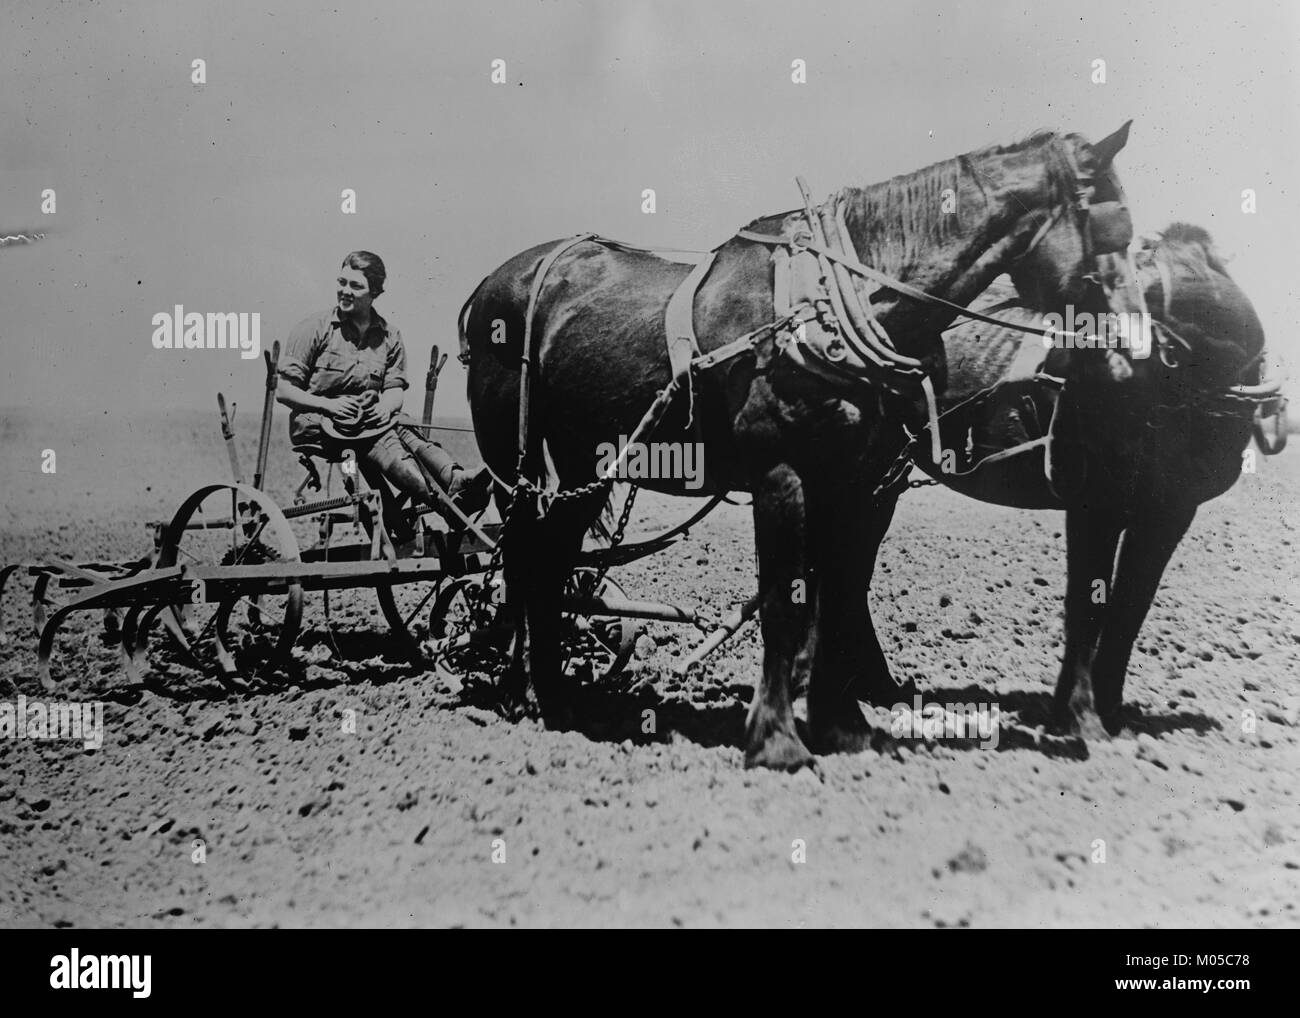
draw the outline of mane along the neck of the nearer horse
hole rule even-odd
[[[845,187],[841,191],[845,218],[870,264],[884,272],[904,273],[936,246],[965,231],[968,224],[962,203],[953,213],[939,212],[944,191],[950,189],[954,195],[959,194],[961,178],[967,176],[982,194],[987,194],[989,174],[980,170],[980,163],[992,156],[1040,148],[1046,164],[1049,200],[1053,204],[1069,200],[1075,182],[1065,144],[1066,139],[1054,131],[1039,130],[1011,144],[987,146],[880,183]]]

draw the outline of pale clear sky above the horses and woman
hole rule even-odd
[[[820,196],[1128,118],[1138,229],[1208,228],[1271,350],[1300,363],[1300,8],[1027,7],[5,0],[0,228],[48,237],[0,251],[0,406],[211,408],[222,389],[251,410],[260,363],[156,351],[153,313],[260,312],[269,346],[369,248],[417,412],[430,346],[454,348],[473,286],[534,243],[708,248],[793,207],[794,174]],[[467,412],[454,360],[438,403]]]

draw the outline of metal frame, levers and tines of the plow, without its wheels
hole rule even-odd
[[[274,410],[276,369],[280,359],[280,343],[274,343],[265,354],[266,387],[263,403],[263,416],[257,438],[257,459],[252,484],[242,481],[238,450],[234,442],[230,413],[226,411],[225,397],[218,394],[218,410],[221,416],[221,432],[225,441],[230,467],[231,481],[216,482],[199,488],[181,504],[170,521],[152,520],[147,523],[153,536],[153,550],[138,559],[124,562],[87,562],[72,563],[62,559],[51,559],[44,563],[13,563],[0,567],[0,601],[3,601],[6,581],[14,573],[25,571],[35,577],[32,588],[34,623],[39,634],[38,641],[38,671],[40,681],[47,690],[57,689],[57,683],[51,675],[51,657],[55,641],[62,623],[73,614],[81,611],[103,610],[105,628],[109,632],[117,631],[121,641],[121,659],[127,676],[136,683],[142,683],[140,647],[147,638],[150,627],[161,618],[164,624],[177,631],[176,618],[185,605],[190,603],[216,603],[218,615],[226,606],[240,598],[260,598],[269,594],[283,594],[286,590],[302,592],[328,592],[351,588],[372,588],[381,595],[391,592],[393,588],[413,582],[442,584],[458,577],[472,577],[484,573],[490,568],[495,542],[500,536],[499,524],[477,525],[471,521],[465,529],[448,530],[446,533],[428,528],[424,516],[433,512],[432,508],[415,510],[412,523],[417,534],[422,538],[433,537],[433,549],[424,547],[426,554],[413,558],[398,558],[393,540],[384,525],[381,495],[367,484],[360,469],[355,475],[344,473],[343,482],[347,489],[343,495],[332,495],[328,490],[324,497],[295,502],[291,506],[280,507],[263,489],[265,480],[266,462],[270,447],[270,428]],[[422,408],[422,430],[436,430],[433,419],[433,397],[437,389],[438,374],[446,364],[446,355],[439,356],[438,347],[433,348],[433,358],[426,376],[426,393]],[[298,488],[298,497],[302,495],[308,475]],[[203,501],[222,489],[231,491],[230,515],[220,519],[203,520],[202,523],[190,519],[194,508]],[[439,489],[441,490],[441,489]],[[442,491],[445,499],[447,495]],[[450,502],[450,499],[447,499]],[[715,508],[723,498],[711,499],[702,510],[694,512],[684,523],[656,537],[633,542],[618,549],[594,549],[580,559],[580,569],[603,569],[611,564],[625,564],[651,554],[656,554],[680,541],[701,519]],[[266,562],[257,564],[231,564],[231,566],[192,566],[178,564],[169,558],[168,549],[174,547],[181,534],[194,529],[234,529],[247,525],[247,514],[252,506],[260,506],[257,519],[263,525],[270,525],[282,536],[287,536],[294,549],[294,559],[286,562]],[[298,554],[296,538],[289,529],[289,520],[318,516],[321,519],[322,541]],[[359,523],[369,533],[369,546],[360,543],[330,547],[329,536],[334,523]],[[432,554],[430,554],[432,553]],[[337,555],[337,558],[333,558]],[[69,592],[68,601],[58,602],[52,597],[52,589]],[[750,598],[744,606],[733,611],[720,624],[711,624],[698,612],[667,603],[638,601],[623,597],[618,593],[616,585],[602,595],[566,595],[564,610],[580,618],[599,616],[606,619],[637,619],[668,623],[692,624],[707,633],[707,637],[694,651],[679,666],[679,671],[685,671],[702,660],[710,653],[722,646],[725,640],[734,634],[758,608],[758,597]],[[126,612],[125,623],[122,612]],[[328,612],[328,601],[326,601]],[[390,625],[398,629],[396,621],[385,610]],[[452,638],[429,640],[420,650],[422,653],[441,657],[458,647],[469,646],[486,637],[500,634],[502,624],[493,621],[488,631],[465,632]],[[630,644],[627,642],[624,632],[624,653],[619,658],[618,667],[630,655]],[[630,631],[630,640],[636,638],[636,631]],[[292,636],[296,636],[296,620]],[[410,633],[399,633],[410,636]],[[0,642],[5,640],[3,629],[3,605],[0,605]],[[290,641],[291,642],[291,641]],[[233,659],[225,647],[221,647],[221,664],[226,672],[234,668]]]

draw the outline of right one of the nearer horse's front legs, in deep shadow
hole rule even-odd
[[[889,705],[901,699],[889,679],[889,664],[867,603],[876,551],[893,516],[894,499],[879,511],[870,484],[838,489],[818,512],[809,534],[816,572],[812,628],[816,655],[809,685],[809,732],[818,753],[857,753],[867,746],[871,727],[858,707],[859,690]]]

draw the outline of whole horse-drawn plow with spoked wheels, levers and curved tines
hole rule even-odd
[[[368,477],[351,450],[322,464],[324,480],[318,459],[300,456],[306,476],[291,503],[280,504],[266,490],[280,343],[264,358],[266,397],[251,478],[244,477],[231,416],[218,394],[231,477],[194,490],[170,519],[147,521],[148,551],[118,562],[52,558],[0,567],[0,611],[6,588],[18,577],[31,581],[38,673],[47,692],[68,677],[57,654],[61,629],[72,616],[96,611],[129,685],[156,684],[155,672],[166,675],[177,664],[234,690],[283,681],[311,660],[303,646],[308,633],[338,646],[330,595],[356,588],[374,592],[389,646],[400,658],[452,672],[493,673],[507,663],[514,627],[502,611],[502,523],[488,519],[490,510],[464,516],[433,478],[443,514],[406,504],[382,477]],[[433,399],[445,363],[446,355],[434,347],[421,423],[404,426],[438,430]],[[646,621],[690,625],[701,633],[699,645],[679,666],[685,671],[755,614],[757,598],[715,621],[697,607],[628,597],[608,576],[611,567],[672,546],[724,501],[710,498],[681,524],[624,543],[634,491],[624,502],[614,542],[584,551],[566,584],[567,671],[618,675]],[[400,553],[391,527],[399,517],[417,536],[415,547]],[[3,615],[0,640],[8,640]]]

